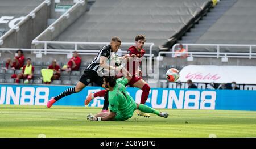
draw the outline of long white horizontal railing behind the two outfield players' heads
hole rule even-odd
[[[109,42],[68,42],[68,41],[37,41],[37,40],[34,40],[34,41],[32,41],[32,44],[35,44],[35,45],[43,44],[45,54],[49,53],[50,51],[53,52],[54,50],[56,50],[56,51],[59,50],[59,49],[47,49],[48,44],[70,44],[70,45],[75,46],[74,49],[68,49],[71,52],[73,50],[77,50],[79,53],[80,53],[80,51],[86,53],[86,52],[89,52],[89,50],[78,50],[77,45],[108,45]],[[122,45],[129,45],[130,46],[130,45],[134,45],[134,43],[133,42],[122,42]],[[154,57],[154,54],[152,54],[152,48],[155,44],[154,43],[145,43],[144,45],[145,46],[150,46],[150,53],[145,54],[145,56],[148,56],[150,58],[149,59],[149,65],[150,65],[150,69],[151,69],[152,68],[152,57]],[[64,50],[64,49],[60,49],[60,50]],[[98,52],[98,50],[94,50],[94,52]],[[122,53],[126,53],[126,50]]]

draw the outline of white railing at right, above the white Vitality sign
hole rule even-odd
[[[172,57],[174,57],[176,46],[179,44],[175,44],[172,46],[172,52],[160,52],[158,56],[161,56],[161,54],[172,54]],[[256,53],[252,52],[252,48],[256,45],[236,45],[236,44],[183,44],[185,46],[185,49],[187,49],[187,54],[189,54],[189,57],[193,59],[193,57],[216,57],[216,58],[256,58]],[[216,48],[216,52],[189,52],[189,48],[192,48],[193,46],[198,47],[205,47],[208,48]],[[248,49],[248,52],[220,52],[220,48],[242,48],[243,50]],[[159,57],[161,59],[161,57]]]

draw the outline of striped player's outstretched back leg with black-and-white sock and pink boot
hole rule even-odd
[[[79,81],[79,82],[76,84],[76,87],[68,88],[68,89],[65,90],[64,92],[60,93],[60,95],[58,95],[58,96],[56,96],[56,97],[52,97],[52,98],[48,101],[46,107],[47,107],[47,108],[51,108],[52,105],[53,105],[56,101],[60,100],[61,98],[65,97],[65,96],[71,95],[72,93],[80,92],[80,91],[82,91],[82,89],[85,88],[85,87],[86,87],[85,84]]]

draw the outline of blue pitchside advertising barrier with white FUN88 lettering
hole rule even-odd
[[[0,104],[46,105],[48,99],[71,86],[32,86],[0,84]],[[85,87],[79,93],[69,95],[54,105],[84,106],[88,93],[102,90],[101,87]],[[142,90],[127,88],[129,94],[139,103]],[[102,107],[104,99],[97,97],[89,107]],[[168,109],[216,109],[256,111],[256,91],[246,90],[188,90],[151,88],[146,105],[152,108]]]

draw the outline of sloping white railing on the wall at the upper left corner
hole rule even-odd
[[[25,16],[22,20],[20,20],[19,23],[14,25],[13,28],[9,29],[9,31],[7,31],[3,36],[0,37],[0,45],[3,44],[3,40],[6,39],[6,37],[9,36],[13,31],[18,32],[19,27],[22,24],[24,24],[27,20],[29,20],[30,18],[35,18],[36,12],[38,12],[44,5],[48,5],[48,6],[51,5],[51,1],[50,0],[45,0],[38,7],[36,7],[34,10],[32,10],[27,16]]]

